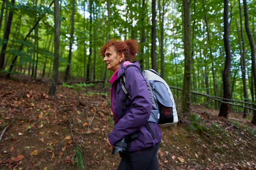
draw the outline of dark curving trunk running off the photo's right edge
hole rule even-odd
[[[252,57],[252,70],[253,70],[253,79],[254,79],[254,90],[256,90],[256,63],[255,63],[255,44],[253,41],[253,35],[251,34],[250,31],[250,26],[249,26],[249,14],[248,14],[248,8],[247,8],[247,3],[246,0],[243,0],[244,3],[244,25],[245,25],[245,30],[247,33],[247,37],[250,42],[250,48],[251,48],[251,57]],[[255,92],[256,94],[256,92]],[[254,106],[255,108],[255,106]],[[253,119],[252,119],[253,125],[256,125],[256,111],[253,111]]]

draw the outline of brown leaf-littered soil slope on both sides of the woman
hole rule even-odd
[[[47,80],[0,77],[0,134],[7,127],[0,142],[0,170],[77,169],[79,144],[85,170],[117,169],[120,158],[106,145],[113,128],[110,94],[84,96],[100,90],[58,86],[54,98],[48,90]],[[162,128],[160,170],[256,169],[256,127],[249,119],[242,119],[241,113],[223,119],[218,111],[200,105],[192,106],[192,113],[209,131],[213,123],[218,130],[196,133],[188,119]]]

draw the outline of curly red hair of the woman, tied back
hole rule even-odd
[[[100,55],[105,57],[105,51],[111,46],[114,48],[116,53],[123,53],[126,61],[134,61],[136,54],[139,53],[138,42],[136,40],[117,41],[113,38],[100,48]]]

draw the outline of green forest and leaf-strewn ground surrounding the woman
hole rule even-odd
[[[160,73],[177,102],[182,124],[177,126],[184,129],[177,128],[169,137],[163,130],[161,168],[256,168],[256,1],[1,0],[0,6],[1,167],[22,169],[23,164],[29,169],[28,162],[19,164],[25,158],[32,161],[32,169],[47,170],[48,161],[52,164],[48,169],[56,164],[63,169],[117,167],[117,158],[105,158],[105,138],[112,128],[108,80],[113,73],[99,54],[102,45],[115,38],[139,42],[141,69]],[[19,129],[24,132],[17,133]],[[185,131],[187,136],[204,136],[200,146],[208,147],[209,139],[219,138],[223,148],[211,146],[219,155],[210,160],[198,162],[198,155],[202,160],[208,155],[195,153],[195,147],[195,152],[190,150],[195,159],[182,151],[168,159],[167,150],[176,145],[171,141],[186,140],[186,135],[177,135]],[[233,131],[247,136],[232,138]],[[33,138],[41,145],[37,140],[27,146],[26,139]],[[105,152],[89,147],[91,143]],[[225,150],[231,143],[233,147],[249,143],[244,157],[236,150],[231,158],[233,152]],[[26,147],[28,156],[14,150],[17,147]],[[69,153],[64,153],[66,148]],[[32,160],[46,150],[48,157]],[[235,166],[227,157],[230,162],[246,161]]]

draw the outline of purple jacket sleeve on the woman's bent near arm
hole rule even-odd
[[[137,132],[148,121],[152,103],[141,72],[136,67],[125,71],[125,88],[131,96],[132,109],[116,124],[108,136],[111,145],[120,139]]]

